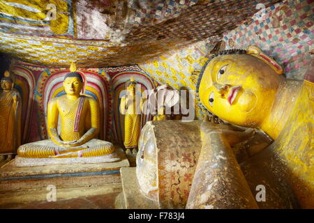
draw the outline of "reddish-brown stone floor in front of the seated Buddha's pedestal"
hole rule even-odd
[[[31,203],[11,203],[1,209],[114,209],[114,201],[120,192],[79,197],[57,201],[33,201]]]

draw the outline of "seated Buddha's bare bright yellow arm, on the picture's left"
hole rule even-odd
[[[48,109],[47,109],[48,134],[49,134],[50,139],[55,144],[61,145],[62,141],[57,132],[58,117],[59,117],[59,110],[57,107],[57,100],[50,100],[50,102],[48,102]]]

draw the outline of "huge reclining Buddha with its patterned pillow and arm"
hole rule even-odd
[[[159,208],[314,208],[313,90],[313,65],[298,81],[258,47],[211,56],[197,98],[227,123],[147,123],[140,191]],[[272,143],[239,160],[234,145],[257,131]]]

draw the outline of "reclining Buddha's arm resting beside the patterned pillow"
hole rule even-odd
[[[227,130],[225,133],[226,130],[219,127],[205,122],[201,125],[202,149],[186,208],[258,208],[230,147],[234,139],[230,142],[225,137],[238,132]],[[225,196],[217,200],[222,192]],[[200,197],[199,194],[205,195]]]

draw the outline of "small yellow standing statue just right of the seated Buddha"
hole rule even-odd
[[[126,84],[126,95],[121,98],[120,111],[124,116],[124,146],[126,153],[137,153],[137,143],[141,131],[141,109],[143,100],[136,97],[136,84],[134,77]]]

